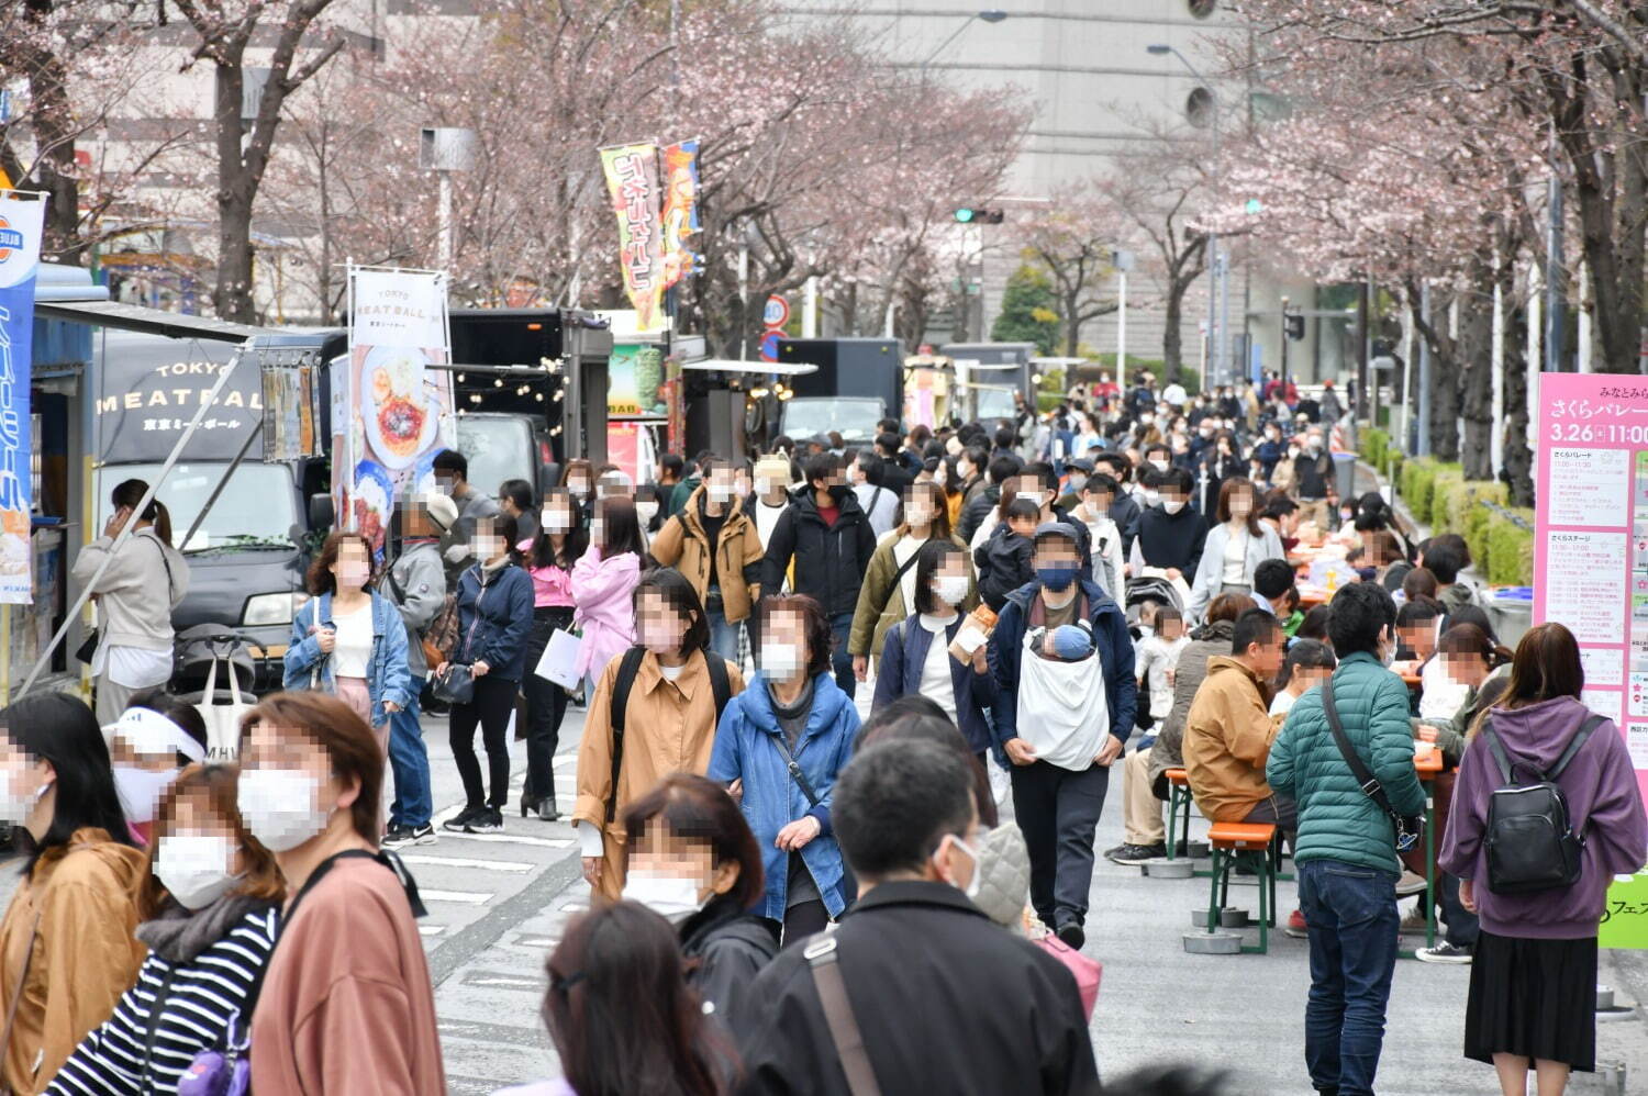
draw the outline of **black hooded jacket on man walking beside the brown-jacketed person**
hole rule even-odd
[[[875,552],[875,532],[870,519],[850,489],[839,499],[840,516],[836,526],[826,526],[819,516],[812,488],[801,488],[773,529],[761,560],[761,590],[781,590],[784,572],[794,559],[796,572],[791,588],[806,593],[824,607],[827,616],[852,613],[859,608],[859,587],[870,569]]]

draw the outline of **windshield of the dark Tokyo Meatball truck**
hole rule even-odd
[[[97,470],[97,531],[109,521],[109,493],[122,480],[155,483],[163,465],[107,465]],[[173,465],[171,475],[155,493],[171,513],[171,537],[185,552],[232,547],[292,547],[290,529],[298,524],[292,471],[285,465],[246,461],[234,470],[218,494],[206,521],[188,544],[183,534],[206,506],[213,489],[229,470],[229,461]]]

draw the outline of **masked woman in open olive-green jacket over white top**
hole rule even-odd
[[[967,578],[961,611],[966,613],[979,603],[972,560],[966,555],[967,546],[949,532],[944,489],[931,481],[910,485],[905,488],[905,521],[875,546],[864,585],[859,587],[859,605],[852,613],[852,631],[847,635],[852,672],[859,681],[867,681],[872,659],[882,658],[887,630],[915,611],[911,607],[921,588],[915,574],[916,555],[923,546],[934,542],[954,544],[961,552]]]

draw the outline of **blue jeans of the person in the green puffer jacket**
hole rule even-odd
[[[1318,1093],[1373,1093],[1396,969],[1396,872],[1343,860],[1299,865],[1310,936],[1305,1068]]]

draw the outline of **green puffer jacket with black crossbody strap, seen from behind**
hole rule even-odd
[[[1351,747],[1384,785],[1398,814],[1419,814],[1424,789],[1414,775],[1414,733],[1407,686],[1358,651],[1333,671],[1333,699]],[[1343,860],[1386,872],[1401,870],[1391,819],[1360,783],[1333,743],[1322,710],[1322,689],[1310,689],[1271,743],[1264,776],[1271,789],[1299,803],[1295,860]]]

